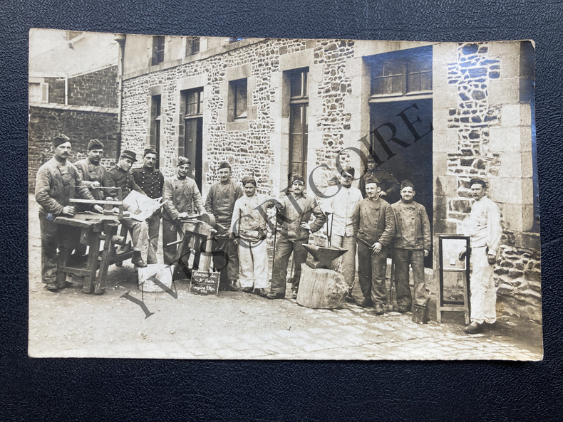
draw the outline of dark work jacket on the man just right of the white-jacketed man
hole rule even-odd
[[[363,199],[354,208],[352,215],[353,234],[358,241],[371,246],[379,242],[388,246],[395,234],[393,209],[383,199]]]

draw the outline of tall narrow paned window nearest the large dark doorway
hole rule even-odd
[[[309,117],[309,68],[291,70],[289,73],[289,174],[307,174],[307,132]]]

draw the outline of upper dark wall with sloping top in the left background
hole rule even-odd
[[[90,107],[118,106],[118,67],[68,78],[68,104]],[[51,101],[49,102],[56,102]],[[62,101],[64,103],[64,101]]]

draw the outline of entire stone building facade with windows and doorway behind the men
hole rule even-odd
[[[361,174],[371,149],[417,186],[436,273],[438,234],[458,232],[469,181],[484,178],[504,228],[499,310],[541,320],[530,43],[126,36],[121,46],[121,148],[156,147],[166,176],[186,155],[204,196],[222,161],[262,193],[301,172],[321,195],[339,166]]]

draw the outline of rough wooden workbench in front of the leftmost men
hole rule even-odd
[[[118,216],[78,213],[73,217],[59,216],[55,218],[55,223],[80,229],[80,244],[89,246],[86,263],[78,259],[73,263],[76,266],[70,266],[71,252],[76,247],[76,238],[73,240],[71,236],[66,237],[58,261],[58,288],[65,286],[67,273],[73,273],[85,276],[83,292],[102,295],[105,291],[109,266],[133,256],[132,248],[117,250],[115,246],[116,243],[123,244],[125,241],[123,237],[117,236]],[[101,241],[103,241],[103,249],[100,250]]]

